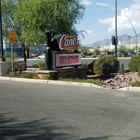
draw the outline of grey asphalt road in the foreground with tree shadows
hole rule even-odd
[[[140,140],[136,92],[0,81],[0,140]]]

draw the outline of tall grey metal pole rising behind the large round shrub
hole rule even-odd
[[[118,37],[117,37],[117,0],[115,0],[115,58],[117,59],[117,44],[118,44]]]

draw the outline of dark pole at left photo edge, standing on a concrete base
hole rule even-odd
[[[2,61],[5,61],[4,59],[4,53],[3,53],[3,37],[2,37],[2,10],[1,10],[1,0],[0,0],[0,46],[1,46],[1,58]]]

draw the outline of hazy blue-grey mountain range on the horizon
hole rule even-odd
[[[127,34],[123,34],[118,37],[118,42],[121,44],[136,44],[136,36],[129,36]],[[140,33],[137,34],[137,44],[140,42]],[[92,44],[86,45],[86,47],[98,47],[98,46],[109,46],[111,44],[111,37],[109,39],[104,39],[101,41],[95,41]]]

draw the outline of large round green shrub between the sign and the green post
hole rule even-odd
[[[111,55],[99,57],[94,63],[94,73],[97,75],[110,74],[118,71],[119,61]]]

